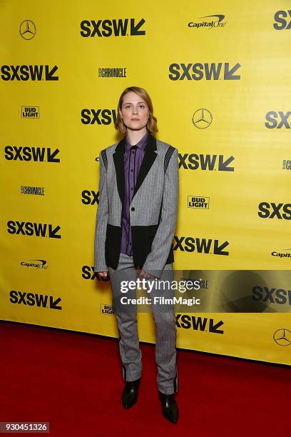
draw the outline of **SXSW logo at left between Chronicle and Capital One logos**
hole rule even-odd
[[[53,226],[47,223],[33,223],[31,221],[7,221],[7,232],[15,235],[61,238],[58,233],[61,226]]]

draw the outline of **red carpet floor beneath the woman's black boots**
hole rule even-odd
[[[0,337],[2,422],[48,421],[44,436],[291,436],[287,366],[178,351],[172,425],[160,412],[153,345],[141,343],[139,399],[126,411],[116,339],[9,322]]]

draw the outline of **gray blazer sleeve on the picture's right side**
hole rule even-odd
[[[178,215],[178,196],[179,196],[179,171],[178,171],[178,149],[173,151],[168,168],[165,171],[165,181],[163,188],[163,204],[160,215],[160,224],[153,238],[151,251],[148,253],[143,270],[147,273],[161,276],[170,246],[173,242],[175,226]]]

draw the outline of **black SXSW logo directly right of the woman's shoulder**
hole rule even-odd
[[[223,155],[204,155],[204,154],[178,154],[179,169],[185,170],[208,170],[208,171],[235,171],[230,164],[235,159],[234,156]]]

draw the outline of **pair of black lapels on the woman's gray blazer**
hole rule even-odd
[[[121,203],[124,202],[124,186],[125,186],[125,175],[124,175],[124,151],[125,151],[125,143],[126,137],[124,137],[121,141],[119,141],[116,146],[116,151],[113,154],[113,161],[116,168],[116,182],[118,186],[118,193],[121,198]],[[133,191],[133,197],[136,195],[136,192],[140,188],[141,184],[143,184],[148,171],[150,171],[150,167],[153,165],[155,158],[157,157],[157,141],[153,135],[148,133],[148,142],[145,147],[145,154],[143,156],[143,161],[141,163],[141,168],[138,172],[138,179],[136,181],[136,186]]]

